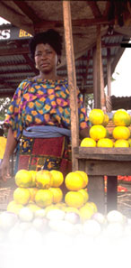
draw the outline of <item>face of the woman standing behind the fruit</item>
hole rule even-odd
[[[41,73],[53,73],[57,68],[57,53],[48,44],[39,43],[35,51],[35,63]]]

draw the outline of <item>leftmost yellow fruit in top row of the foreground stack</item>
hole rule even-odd
[[[30,171],[20,170],[15,175],[15,183],[18,187],[30,187],[32,183],[32,175]]]

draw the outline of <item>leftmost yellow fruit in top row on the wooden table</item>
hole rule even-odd
[[[104,112],[100,109],[92,109],[89,114],[89,120],[92,125],[100,125],[104,121]]]

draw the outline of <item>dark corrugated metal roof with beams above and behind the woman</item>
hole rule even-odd
[[[110,52],[111,73],[114,72],[124,48],[121,42],[130,38],[131,27],[116,24],[117,14],[111,19],[112,1],[71,1],[74,55],[77,85],[83,93],[93,92],[93,51],[96,45],[96,25],[100,25],[101,55],[104,84],[107,84],[108,50]],[[120,5],[120,4],[119,4]],[[50,8],[51,6],[51,8]],[[127,8],[126,6],[124,8]],[[6,10],[6,13],[4,13]],[[45,12],[46,11],[46,12]],[[57,11],[57,12],[56,12]],[[114,9],[116,12],[116,7]],[[2,30],[15,32],[20,28],[33,34],[48,28],[56,28],[62,35],[63,11],[61,1],[4,1],[0,2],[0,15],[13,24],[0,26]],[[15,14],[15,15],[14,15]],[[127,18],[130,14],[127,13]],[[109,19],[110,17],[110,19]],[[88,19],[87,19],[88,18]],[[56,23],[57,22],[57,23]],[[125,23],[125,22],[124,22]],[[16,26],[13,26],[16,25]],[[51,26],[50,26],[51,25]],[[111,30],[110,30],[111,28]],[[111,34],[110,34],[111,33]],[[0,39],[0,94],[7,92],[13,95],[18,84],[28,76],[35,76],[37,69],[31,60],[28,50],[29,38]],[[65,65],[65,45],[62,64],[57,74],[67,76]],[[84,89],[84,90],[83,90]]]

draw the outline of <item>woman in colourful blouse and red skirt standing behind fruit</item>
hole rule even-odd
[[[55,30],[36,34],[30,43],[39,75],[25,79],[16,89],[4,125],[9,127],[0,170],[3,180],[17,147],[17,170],[71,171],[69,89],[57,76],[62,38]],[[88,135],[83,99],[78,91],[80,136]]]

